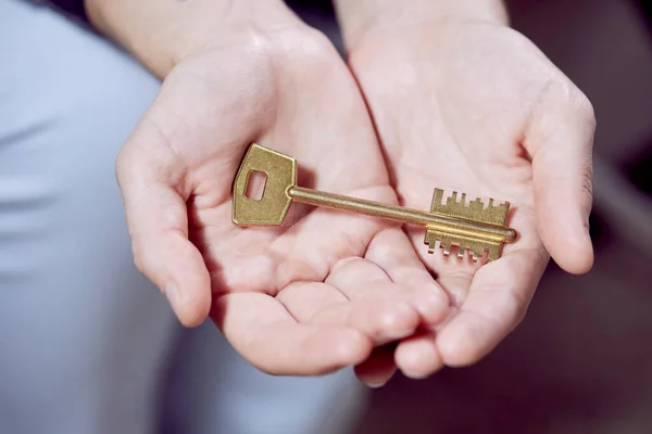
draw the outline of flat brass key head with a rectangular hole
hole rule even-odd
[[[254,173],[266,177],[260,199],[247,196],[247,189]],[[288,190],[296,184],[294,158],[256,143],[251,144],[234,182],[234,222],[243,226],[280,225],[292,202]]]

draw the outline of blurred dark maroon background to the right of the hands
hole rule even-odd
[[[288,3],[341,47],[328,0]],[[652,3],[506,3],[594,105],[595,266],[574,277],[551,264],[492,355],[392,380],[359,433],[652,433]]]

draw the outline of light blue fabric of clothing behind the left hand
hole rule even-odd
[[[112,44],[0,0],[0,433],[346,433],[350,371],[264,375],[181,329],[131,263],[116,153],[159,82]]]

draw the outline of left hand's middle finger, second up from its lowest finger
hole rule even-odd
[[[351,327],[376,346],[405,337],[418,326],[418,318],[405,302],[393,297],[351,302],[325,283],[294,283],[276,298],[301,323]]]

